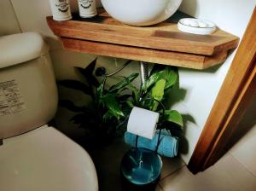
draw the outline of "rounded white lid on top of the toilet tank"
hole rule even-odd
[[[0,68],[31,61],[45,55],[49,48],[38,32],[0,37]]]

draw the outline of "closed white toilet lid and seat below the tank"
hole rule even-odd
[[[4,191],[97,191],[89,154],[53,127],[44,125],[0,146]]]

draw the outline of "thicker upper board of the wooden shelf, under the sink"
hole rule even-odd
[[[73,20],[66,21],[47,17],[47,21],[55,35],[60,37],[199,55],[234,49],[239,41],[236,36],[221,30],[208,36],[180,32],[177,23],[172,22],[147,27],[127,26],[105,13],[90,19],[74,16]]]

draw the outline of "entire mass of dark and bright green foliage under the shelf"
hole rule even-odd
[[[127,61],[128,65],[131,61]],[[138,89],[132,82],[138,77],[138,73],[132,73],[128,77],[122,77],[117,83],[106,89],[105,84],[109,77],[105,71],[99,70],[98,75],[103,77],[98,82],[93,75],[96,60],[88,67],[76,69],[86,79],[86,84],[78,80],[61,80],[61,86],[69,89],[79,90],[91,97],[90,106],[76,106],[73,101],[61,100],[60,106],[76,113],[70,120],[86,130],[85,142],[92,144],[106,144],[115,136],[122,135],[125,131],[125,121],[128,119],[134,106],[143,107],[152,111],[160,112],[157,101],[165,101],[170,90],[178,84],[178,72],[175,67],[155,65],[148,80]],[[152,101],[143,98],[154,98]],[[166,129],[172,130],[173,124],[182,127],[183,119],[175,110],[166,110],[164,119]]]

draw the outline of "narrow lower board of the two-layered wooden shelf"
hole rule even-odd
[[[227,52],[221,52],[212,56],[191,55],[158,49],[136,48],[112,43],[98,43],[73,38],[61,38],[61,42],[65,49],[73,51],[195,69],[205,69],[223,63],[227,56]]]

